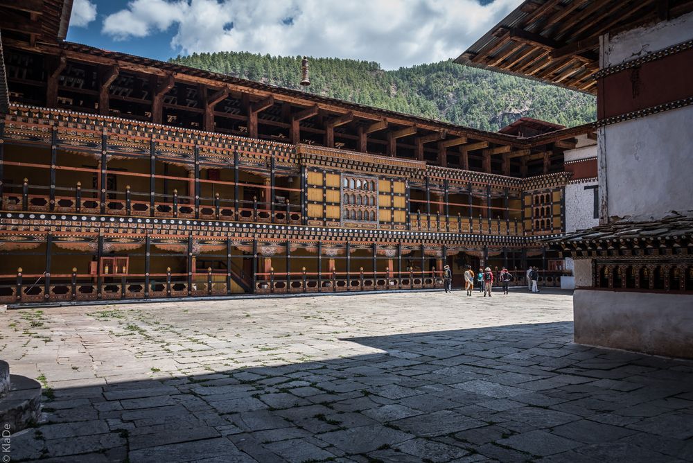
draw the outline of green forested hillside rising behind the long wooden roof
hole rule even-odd
[[[193,53],[170,61],[303,88],[297,56]],[[484,130],[498,130],[522,116],[568,127],[596,117],[593,96],[451,61],[384,71],[376,62],[310,58],[310,82],[306,91],[314,94]]]

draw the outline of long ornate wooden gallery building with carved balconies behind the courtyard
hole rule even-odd
[[[70,3],[0,8],[1,302],[435,288],[444,263],[559,284],[538,242],[592,125],[484,132],[64,42]]]

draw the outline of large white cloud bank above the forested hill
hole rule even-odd
[[[182,53],[251,51],[377,61],[385,69],[455,58],[520,0],[134,0],[109,15],[118,40],[174,26]]]

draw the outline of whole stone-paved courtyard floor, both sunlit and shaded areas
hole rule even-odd
[[[572,344],[565,292],[10,311],[12,460],[693,460],[693,362]]]

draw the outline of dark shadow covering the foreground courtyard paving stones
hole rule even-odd
[[[383,353],[54,390],[12,460],[693,460],[693,362],[571,340],[570,322],[349,338]]]

